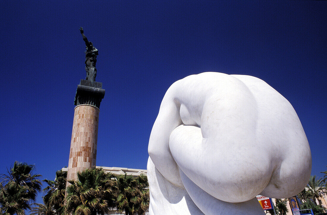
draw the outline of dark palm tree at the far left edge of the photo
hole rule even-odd
[[[34,165],[14,162],[8,174],[1,175],[0,208],[1,214],[24,215],[35,202],[36,195],[41,191],[40,174],[32,175]]]

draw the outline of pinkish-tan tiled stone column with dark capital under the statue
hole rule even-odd
[[[72,139],[67,179],[76,179],[77,172],[96,165],[99,108],[105,90],[102,83],[81,80],[77,85]]]

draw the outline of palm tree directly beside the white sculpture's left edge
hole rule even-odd
[[[117,177],[117,209],[125,215],[143,215],[149,207],[147,177],[141,174],[133,177],[127,174]]]

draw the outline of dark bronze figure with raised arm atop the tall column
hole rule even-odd
[[[86,51],[85,51],[85,70],[86,70],[86,80],[95,81],[96,76],[96,55],[98,55],[98,50],[93,46],[93,43],[88,41],[84,35],[83,28],[80,27],[79,31],[82,34],[83,40],[85,41]]]

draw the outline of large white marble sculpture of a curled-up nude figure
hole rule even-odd
[[[311,172],[292,105],[264,81],[204,72],[172,84],[149,146],[150,214],[265,214],[256,199],[291,197]]]

